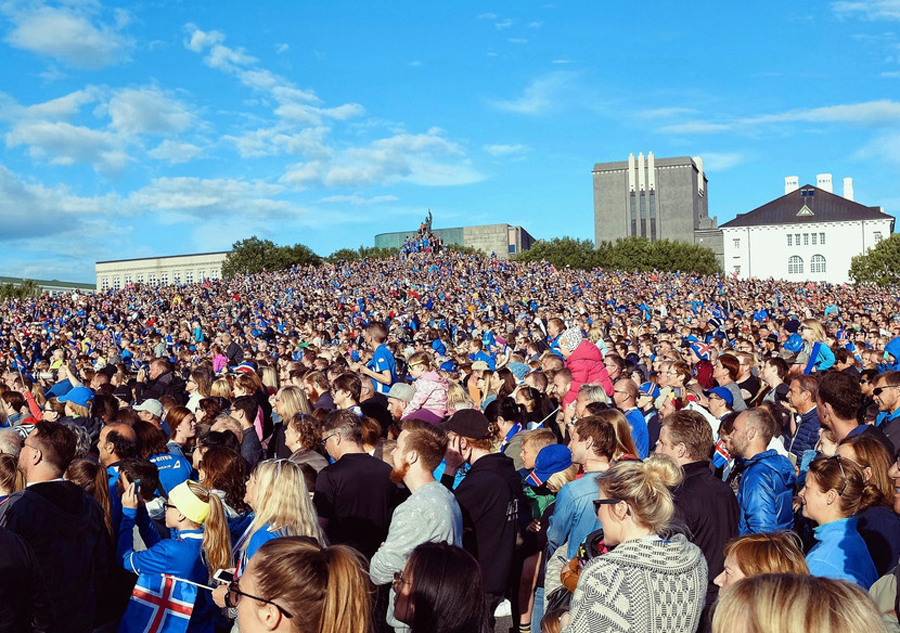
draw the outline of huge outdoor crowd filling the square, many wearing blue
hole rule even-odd
[[[900,631],[896,289],[422,233],[0,314],[0,633]]]

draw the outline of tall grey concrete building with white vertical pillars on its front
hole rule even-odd
[[[709,217],[703,160],[653,152],[594,165],[594,241],[670,239],[711,248],[723,259],[722,232]]]

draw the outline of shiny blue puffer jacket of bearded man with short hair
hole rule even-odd
[[[794,466],[787,457],[768,450],[748,459],[738,490],[739,533],[743,536],[791,529],[793,499]]]

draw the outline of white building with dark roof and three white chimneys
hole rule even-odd
[[[853,201],[849,178],[843,197],[832,193],[831,174],[815,187],[798,181],[785,178],[782,197],[720,227],[727,274],[846,283],[850,260],[893,233],[893,216]]]

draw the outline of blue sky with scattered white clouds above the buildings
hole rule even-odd
[[[0,0],[0,274],[320,254],[508,222],[593,236],[591,168],[701,156],[719,223],[783,178],[900,213],[900,0]]]

